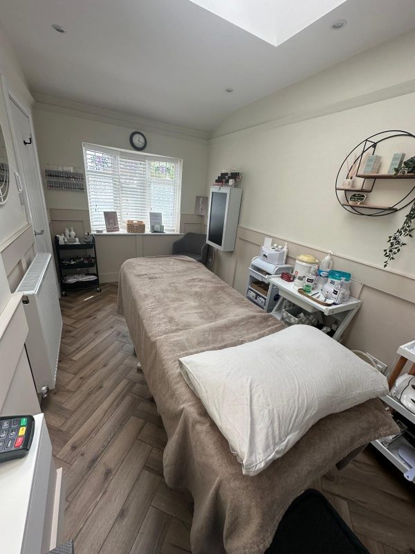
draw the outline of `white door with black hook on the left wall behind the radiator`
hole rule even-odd
[[[17,149],[19,175],[24,186],[24,196],[28,216],[35,233],[35,244],[38,252],[53,254],[52,241],[46,213],[46,202],[37,164],[37,152],[32,136],[32,125],[28,114],[17,105],[10,96],[10,112]]]

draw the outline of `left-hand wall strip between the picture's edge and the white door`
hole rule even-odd
[[[28,262],[33,258],[33,232],[28,224],[24,206],[17,194],[15,171],[17,160],[12,143],[12,134],[8,120],[6,102],[8,92],[12,93],[30,108],[33,98],[30,96],[24,74],[15,54],[8,44],[3,27],[0,24],[0,125],[6,141],[8,162],[10,165],[10,192],[6,204],[0,206],[0,253],[12,291],[21,280]],[[2,283],[3,285],[3,283]]]

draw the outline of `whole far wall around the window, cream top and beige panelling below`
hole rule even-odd
[[[84,166],[82,142],[128,148],[129,135],[140,129],[147,136],[146,151],[153,154],[183,159],[181,187],[181,233],[200,232],[203,218],[194,215],[196,195],[205,193],[208,167],[208,141],[195,132],[149,122],[131,123],[119,118],[121,114],[107,111],[80,109],[37,103],[34,122],[42,172],[46,164],[53,166]],[[88,199],[85,193],[62,190],[45,190],[52,236],[73,226],[77,235],[91,231]],[[118,280],[120,266],[128,258],[160,256],[172,253],[172,242],[178,235],[102,235],[97,238],[97,257],[102,282]]]

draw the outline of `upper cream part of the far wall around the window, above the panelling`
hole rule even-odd
[[[82,142],[127,148],[129,136],[136,130],[130,126],[111,122],[111,118],[97,120],[93,114],[37,104],[34,123],[42,171],[46,164],[84,167]],[[140,129],[142,130],[142,129]],[[208,141],[185,134],[147,132],[146,152],[183,159],[181,213],[194,213],[196,195],[205,192],[208,166]],[[46,204],[53,209],[87,210],[85,193],[46,189]]]

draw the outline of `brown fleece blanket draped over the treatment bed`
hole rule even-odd
[[[295,497],[354,450],[396,433],[380,400],[370,400],[320,420],[266,470],[243,476],[178,358],[254,341],[284,325],[184,256],[127,260],[118,310],[167,431],[165,481],[194,498],[193,554],[263,554]]]

